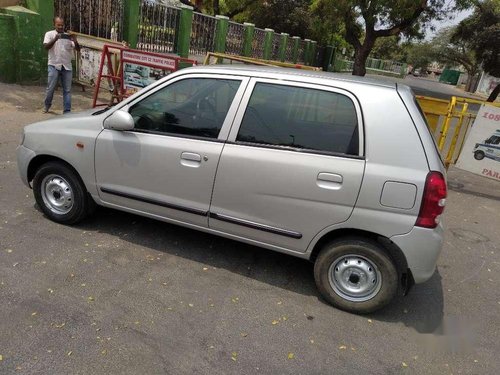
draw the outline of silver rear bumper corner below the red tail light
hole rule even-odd
[[[436,263],[443,247],[443,225],[434,229],[413,227],[403,235],[391,237],[406,257],[416,284],[429,280],[436,270]]]

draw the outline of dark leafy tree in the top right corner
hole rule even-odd
[[[475,5],[474,13],[460,22],[453,38],[469,43],[483,70],[500,77],[500,2],[486,0]],[[488,101],[495,101],[499,93],[500,84],[493,89]]]

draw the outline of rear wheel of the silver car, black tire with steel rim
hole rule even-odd
[[[363,237],[327,244],[314,264],[314,279],[330,304],[356,314],[381,309],[399,289],[399,274],[386,250]]]

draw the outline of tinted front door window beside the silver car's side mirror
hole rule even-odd
[[[241,81],[188,78],[134,104],[134,130],[217,138]]]

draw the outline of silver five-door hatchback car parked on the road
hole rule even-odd
[[[25,127],[17,157],[51,220],[97,204],[309,259],[322,296],[355,313],[429,279],[442,246],[445,169],[403,85],[189,68]]]

